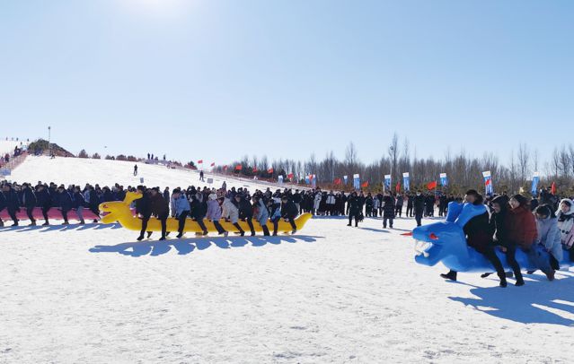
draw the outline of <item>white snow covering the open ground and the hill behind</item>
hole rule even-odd
[[[29,158],[11,178],[128,185],[132,164]],[[148,186],[198,179],[140,172]],[[444,282],[444,267],[414,263],[401,236],[413,220],[346,224],[167,242],[116,225],[4,228],[0,362],[571,362],[572,271],[520,288],[478,274]]]

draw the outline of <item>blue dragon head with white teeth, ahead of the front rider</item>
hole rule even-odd
[[[435,265],[442,262],[448,268],[464,272],[471,259],[463,227],[474,216],[486,212],[484,205],[448,204],[446,221],[420,226],[412,231],[415,243],[415,261]]]

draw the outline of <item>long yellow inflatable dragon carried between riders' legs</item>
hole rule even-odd
[[[100,204],[100,212],[102,212],[102,223],[109,224],[114,223],[116,221],[119,224],[128,229],[128,230],[137,230],[140,231],[142,229],[142,221],[137,216],[134,216],[134,212],[129,209],[129,205],[141,198],[142,195],[128,192],[126,194],[126,198],[124,201],[114,201],[108,203]],[[297,230],[303,229],[305,226],[305,222],[311,219],[311,213],[304,213],[301,216],[295,219],[295,224]],[[215,225],[213,222],[205,220],[203,221],[208,228],[209,232],[217,232]],[[227,231],[237,231],[237,228],[231,222],[226,222],[223,219],[219,221],[221,226]],[[249,225],[246,221],[239,221],[239,226],[244,231],[251,231],[249,229]],[[273,231],[273,223],[268,222],[267,227],[269,230]],[[255,231],[263,231],[261,229],[261,225],[257,221],[253,221],[253,228]],[[162,225],[161,222],[155,218],[149,219],[147,222],[147,231],[161,231]],[[178,221],[173,218],[167,219],[167,230],[168,231],[177,231],[178,230]],[[288,221],[284,221],[281,219],[278,223],[278,232],[287,232],[291,231],[293,228]],[[199,228],[199,224],[196,221],[191,219],[186,219],[185,226],[183,228],[184,232],[202,232],[201,228]]]

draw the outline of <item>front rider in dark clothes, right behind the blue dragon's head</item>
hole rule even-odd
[[[466,192],[464,199],[469,204],[484,204],[482,195],[473,189]],[[500,263],[499,257],[494,252],[494,245],[492,244],[493,231],[490,227],[489,212],[485,211],[481,215],[474,216],[464,224],[463,231],[468,246],[474,248],[490,261],[499,275],[500,287],[506,287],[507,276],[506,273],[504,273],[504,268]],[[456,272],[452,270],[446,274],[440,274],[440,276],[451,281],[456,281]]]

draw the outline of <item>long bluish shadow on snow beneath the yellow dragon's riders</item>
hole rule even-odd
[[[121,243],[112,246],[99,245],[90,249],[91,253],[119,253],[122,256],[161,256],[172,250],[172,247],[177,250],[180,256],[190,254],[195,249],[205,250],[208,247],[220,247],[228,249],[231,247],[245,247],[251,245],[252,247],[263,247],[267,244],[279,245],[282,242],[296,243],[306,242],[313,243],[317,238],[307,235],[295,235],[285,237],[208,237],[208,238],[182,238],[182,239],[168,239],[165,241],[136,241]]]

